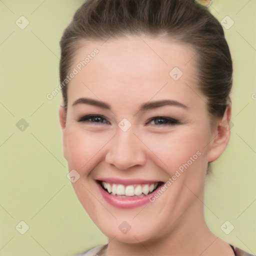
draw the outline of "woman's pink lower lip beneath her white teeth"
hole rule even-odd
[[[112,206],[117,207],[117,208],[121,208],[121,209],[128,209],[128,208],[135,208],[135,207],[139,207],[141,205],[144,205],[149,201],[149,197],[152,196],[153,193],[150,193],[148,195],[145,195],[143,197],[131,197],[131,198],[120,198],[114,195],[109,194],[108,192],[106,192],[100,184],[97,183],[97,186],[99,188],[99,191],[102,195],[102,197]],[[159,187],[158,187],[159,188]],[[158,189],[157,188],[157,189]],[[157,190],[156,189],[156,190]],[[156,191],[155,190],[155,191]],[[154,192],[155,192],[154,191]]]

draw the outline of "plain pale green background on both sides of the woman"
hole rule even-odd
[[[106,242],[66,177],[61,95],[46,98],[59,84],[59,39],[82,2],[0,1],[0,255],[73,255]],[[206,180],[205,217],[222,239],[256,253],[256,1],[215,0],[209,9],[234,21],[224,28],[234,83],[231,139]],[[24,29],[15,24],[22,15]],[[21,220],[29,226],[24,234],[15,228]],[[226,220],[234,226],[229,234],[220,228]]]

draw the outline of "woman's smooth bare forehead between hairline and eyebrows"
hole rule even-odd
[[[129,101],[131,96],[137,101],[164,95],[182,99],[191,94],[191,88],[197,89],[195,52],[170,39],[131,36],[84,41],[72,62],[77,74],[69,82],[68,101],[81,94],[106,101],[114,96],[116,100],[117,95]],[[198,95],[194,96],[198,100]]]

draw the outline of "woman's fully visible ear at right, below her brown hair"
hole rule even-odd
[[[226,107],[221,119],[214,123],[212,140],[208,147],[208,162],[216,160],[225,150],[230,138],[231,105]]]

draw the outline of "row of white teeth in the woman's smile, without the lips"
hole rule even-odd
[[[134,184],[134,185],[122,185],[122,184],[110,184],[105,181],[101,182],[103,187],[112,195],[125,195],[125,196],[140,196],[142,193],[147,195],[157,187],[156,183],[151,184]]]

